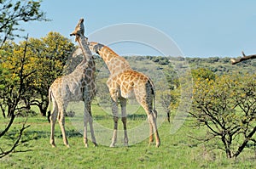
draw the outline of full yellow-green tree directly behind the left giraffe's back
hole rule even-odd
[[[73,42],[57,32],[49,32],[41,39],[29,40],[27,55],[32,58],[32,67],[36,67],[37,71],[30,77],[33,81],[32,93],[26,97],[26,102],[38,106],[42,115],[46,115],[49,104],[49,86],[67,68],[67,59],[73,48]]]

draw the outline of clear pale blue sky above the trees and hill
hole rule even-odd
[[[57,31],[73,39],[69,33],[81,17],[85,19],[86,36],[111,25],[136,23],[165,34],[177,44],[183,56],[237,57],[241,50],[256,54],[255,7],[253,0],[44,0],[42,9],[52,21],[21,26],[30,37],[44,37],[49,31]],[[120,55],[159,54],[142,45],[112,46]]]

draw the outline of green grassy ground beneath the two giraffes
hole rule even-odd
[[[110,115],[96,105],[93,106],[93,112],[96,123],[112,128],[113,121]],[[148,138],[146,138],[129,147],[123,147],[122,140],[119,139],[119,146],[116,148],[109,148],[104,144],[93,147],[90,143],[87,149],[84,148],[83,136],[73,125],[75,118],[67,117],[67,136],[71,145],[71,148],[67,149],[63,145],[58,124],[55,133],[57,147],[52,148],[49,145],[50,125],[46,118],[29,117],[27,124],[31,127],[26,129],[23,139],[31,139],[31,141],[17,150],[32,150],[26,153],[14,153],[0,159],[0,168],[253,168],[256,166],[256,155],[253,149],[245,149],[236,160],[229,160],[225,158],[223,151],[219,149],[209,151],[204,144],[197,144],[188,135],[190,133],[200,135],[205,131],[190,127],[189,117],[183,127],[174,134],[170,134],[172,124],[167,121],[160,124],[160,148],[155,148],[154,145],[148,146]],[[24,118],[15,120],[9,134],[1,138],[0,147],[4,148],[4,144],[13,143],[12,137],[24,120]],[[130,115],[128,127],[136,127],[145,120],[146,116],[139,110],[137,115]],[[0,120],[1,128],[6,121]],[[120,121],[119,128],[121,128]],[[148,133],[148,128],[143,132]],[[128,135],[132,137],[133,133],[128,131]],[[109,144],[111,136],[106,138]],[[119,137],[122,138],[123,135]],[[97,139],[100,138],[97,136]]]

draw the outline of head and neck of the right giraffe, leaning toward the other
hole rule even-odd
[[[114,53],[111,48],[97,42],[90,42],[89,48],[102,57],[105,64],[108,66],[111,76],[118,75],[125,70],[131,70],[127,60]]]

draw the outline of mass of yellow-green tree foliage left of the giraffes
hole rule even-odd
[[[22,79],[23,89],[26,91],[22,99],[37,100],[34,104],[37,104],[39,109],[44,111],[41,113],[45,114],[49,86],[62,75],[63,67],[73,48],[73,42],[56,32],[49,32],[41,39],[29,38],[27,42],[19,44],[4,43],[0,50],[0,87],[3,89],[0,92],[14,92]]]

